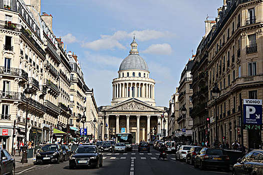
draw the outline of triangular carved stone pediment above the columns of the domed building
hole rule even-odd
[[[126,101],[123,101],[119,104],[111,106],[107,111],[160,111],[160,109],[153,107],[143,101],[140,101],[136,98],[131,98]]]

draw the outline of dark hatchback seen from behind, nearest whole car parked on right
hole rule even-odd
[[[215,167],[229,171],[230,159],[223,149],[204,147],[197,153],[194,160],[194,167],[201,170],[206,167]]]

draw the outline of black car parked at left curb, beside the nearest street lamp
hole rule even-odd
[[[37,163],[64,161],[63,150],[59,144],[45,144],[37,153]]]

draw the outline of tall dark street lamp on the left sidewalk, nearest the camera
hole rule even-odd
[[[27,109],[26,109],[26,133],[25,133],[25,143],[23,146],[23,155],[22,155],[22,163],[27,163],[28,162],[28,155],[27,155],[27,133],[28,133],[28,106],[29,106],[29,99],[32,96],[32,89],[29,87],[29,83],[27,84],[27,88],[24,91],[26,98],[27,98]],[[12,145],[13,146],[13,145]]]

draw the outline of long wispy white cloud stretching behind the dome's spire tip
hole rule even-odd
[[[165,36],[170,36],[170,37],[174,36],[174,34],[169,31],[156,31],[156,30],[146,29],[146,30],[134,30],[128,33],[127,31],[118,30],[113,35],[101,34],[100,39],[91,42],[83,42],[82,46],[93,50],[115,49],[115,48],[125,49],[125,46],[120,43],[120,40],[131,38],[133,33],[136,33],[136,39],[140,41],[158,39],[160,37],[165,37]]]

